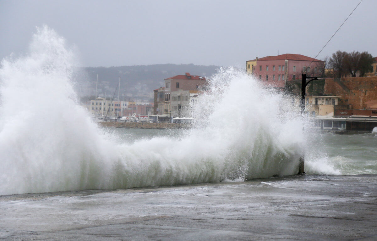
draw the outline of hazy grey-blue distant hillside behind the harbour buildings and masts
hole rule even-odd
[[[87,83],[85,94],[94,95],[98,74],[97,95],[110,96],[115,91],[121,78],[120,99],[151,98],[153,90],[164,86],[164,79],[178,74],[189,72],[192,75],[210,77],[220,66],[193,65],[193,64],[157,64],[134,65],[118,67],[87,67]],[[118,93],[116,93],[118,96]]]

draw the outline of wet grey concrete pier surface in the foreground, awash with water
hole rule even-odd
[[[0,196],[0,239],[376,240],[377,176]]]

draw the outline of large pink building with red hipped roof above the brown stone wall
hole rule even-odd
[[[301,79],[301,74],[319,77],[318,59],[303,56],[301,54],[280,54],[278,56],[267,56],[255,59],[253,75],[264,85],[284,88],[285,82]]]

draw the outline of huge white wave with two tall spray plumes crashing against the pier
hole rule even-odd
[[[119,144],[76,105],[74,54],[47,26],[0,70],[0,195],[296,174],[304,137],[291,101],[231,68],[211,78],[183,137]],[[294,108],[293,108],[294,109]]]

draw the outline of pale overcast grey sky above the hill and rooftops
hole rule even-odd
[[[83,66],[315,57],[359,2],[0,0],[0,58],[25,53],[43,24],[77,46]],[[377,56],[376,9],[376,0],[363,0],[317,58],[339,49]]]

